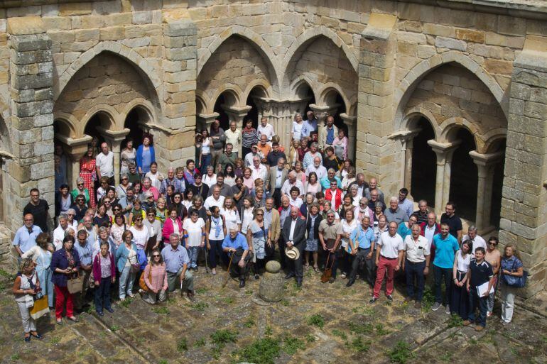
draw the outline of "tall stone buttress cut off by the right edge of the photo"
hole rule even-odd
[[[513,64],[499,223],[500,242],[517,244],[529,272],[518,290],[524,297],[547,288],[547,50],[540,39],[527,37]]]

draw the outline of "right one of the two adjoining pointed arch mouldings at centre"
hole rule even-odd
[[[313,43],[314,40],[317,40],[322,35],[332,40],[332,43],[342,49],[342,52],[347,57],[347,60],[351,63],[353,70],[357,72],[359,60],[357,59],[357,56],[352,53],[350,47],[348,47],[342,38],[340,38],[340,36],[330,28],[327,28],[326,26],[318,26],[304,31],[302,34],[298,35],[298,38],[293,40],[293,43],[291,43],[291,46],[288,48],[288,51],[283,58],[283,62],[281,63],[282,75],[284,75],[283,84],[288,84],[290,81],[290,79],[287,79],[286,77],[288,77],[288,73],[290,73],[288,72],[288,67],[291,67],[291,63],[296,63],[300,59],[300,55],[303,51],[308,48],[308,45]]]

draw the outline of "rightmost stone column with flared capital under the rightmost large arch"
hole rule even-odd
[[[479,180],[477,184],[477,216],[475,226],[480,233],[487,233],[493,230],[490,221],[492,209],[492,184],[494,183],[494,167],[502,159],[503,153],[481,154],[476,150],[470,151],[469,155],[477,165]]]

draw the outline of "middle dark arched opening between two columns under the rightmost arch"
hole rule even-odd
[[[456,214],[462,219],[475,221],[477,215],[478,170],[469,152],[475,150],[475,139],[465,128],[455,134],[461,144],[454,151],[450,167],[450,201],[456,204]],[[444,208],[444,206],[443,206]]]

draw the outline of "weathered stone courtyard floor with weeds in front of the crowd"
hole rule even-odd
[[[536,313],[517,307],[508,327],[499,324],[497,308],[487,330],[476,333],[450,327],[459,322],[444,309],[419,311],[404,304],[401,287],[393,304],[381,297],[371,305],[362,281],[351,288],[340,278],[323,285],[310,270],[302,289],[291,280],[286,298],[270,305],[256,298],[257,281],[239,289],[230,280],[222,289],[224,273],[211,276],[200,269],[195,276],[193,304],[173,295],[156,306],[137,298],[114,304],[115,314],[105,311],[98,319],[84,313],[79,323],[63,326],[54,324],[52,313],[38,323],[45,339],[31,343],[23,342],[11,281],[1,277],[0,363],[237,363],[244,361],[237,352],[260,338],[273,339],[267,348],[280,348],[277,358],[264,355],[264,363],[389,363],[396,360],[389,352],[401,342],[409,350],[397,353],[409,354],[407,363],[547,363],[544,307]],[[237,342],[222,336],[224,329],[237,331]],[[217,343],[215,332],[222,336]]]

